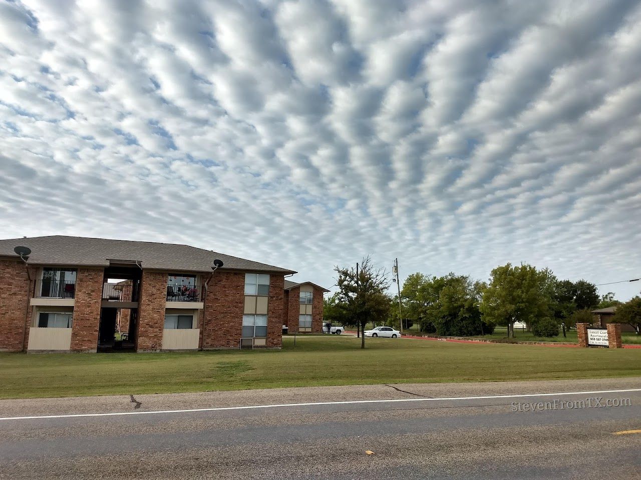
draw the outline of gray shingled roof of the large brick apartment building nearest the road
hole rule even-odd
[[[53,235],[0,240],[0,255],[17,257],[16,246],[31,248],[29,264],[109,266],[115,260],[138,260],[142,268],[179,271],[212,271],[214,259],[221,259],[222,269],[296,273],[252,260],[231,257],[224,253],[175,243],[137,242],[104,238]]]

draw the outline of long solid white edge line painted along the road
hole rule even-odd
[[[361,403],[398,403],[398,402],[437,402],[444,400],[483,400],[495,398],[524,398],[524,397],[551,397],[555,395],[591,395],[613,394],[624,392],[641,392],[641,388],[628,388],[626,390],[594,390],[590,392],[556,392],[553,394],[518,394],[518,395],[490,395],[484,397],[442,397],[442,398],[398,398],[390,400],[344,400],[337,402],[308,402],[308,403],[276,403],[271,405],[249,406],[221,406],[214,408],[188,408],[185,410],[150,410],[149,412],[113,412],[113,413],[70,413],[68,415],[35,415],[33,417],[0,417],[0,420],[34,420],[34,419],[69,419],[74,417],[117,417],[119,415],[153,415],[154,413],[185,413],[185,412],[221,412],[223,410],[251,410],[258,408],[288,408],[294,406],[315,405],[345,405]]]

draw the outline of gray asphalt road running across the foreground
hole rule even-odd
[[[639,479],[641,432],[616,432],[641,429],[641,392],[555,393],[633,388],[641,379],[1,401],[0,417],[135,414],[0,420],[0,478]],[[531,396],[449,398],[519,394]],[[374,403],[309,404],[360,399]],[[631,404],[597,406],[608,399]],[[306,404],[246,408],[282,403]],[[150,413],[187,408],[231,409]]]

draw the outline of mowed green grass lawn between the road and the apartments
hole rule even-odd
[[[0,398],[246,388],[641,376],[641,349],[328,336],[283,350],[0,354]]]

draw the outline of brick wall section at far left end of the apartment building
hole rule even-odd
[[[29,336],[28,307],[33,293],[35,269],[30,268],[32,281],[22,260],[0,259],[0,351],[21,351]],[[25,331],[25,329],[27,329]]]

